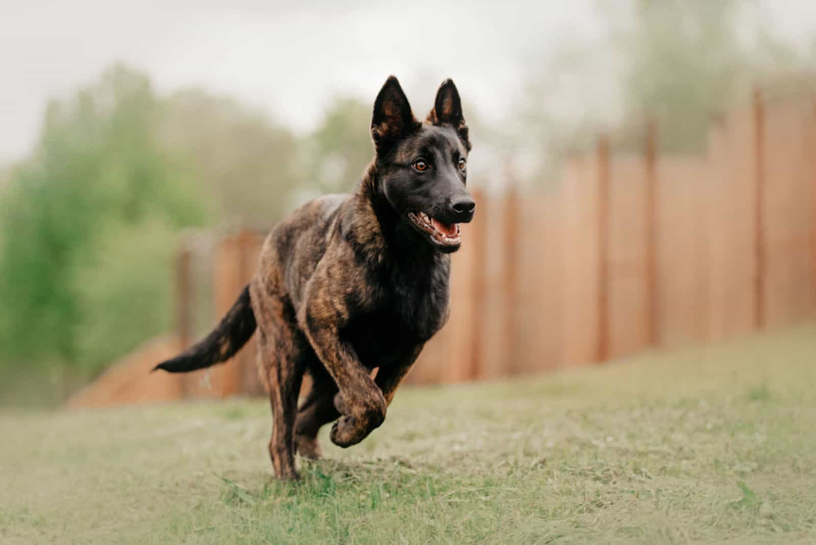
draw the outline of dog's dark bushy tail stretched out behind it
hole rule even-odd
[[[250,288],[246,286],[229,309],[227,315],[210,335],[193,344],[178,356],[162,361],[153,370],[163,369],[170,373],[185,373],[227,361],[246,344],[255,333],[255,313],[250,304]]]

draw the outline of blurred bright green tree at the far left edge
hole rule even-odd
[[[161,117],[147,78],[122,67],[50,105],[0,203],[7,371],[90,373],[166,327],[172,233],[208,214],[190,171],[155,139]]]

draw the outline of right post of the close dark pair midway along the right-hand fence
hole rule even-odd
[[[646,343],[659,343],[659,293],[658,293],[658,202],[659,180],[657,173],[657,126],[654,118],[646,125],[645,139],[645,265],[646,265]]]

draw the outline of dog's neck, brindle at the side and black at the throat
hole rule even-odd
[[[400,217],[386,199],[375,162],[366,169],[344,215],[344,236],[375,266],[410,264],[434,267],[447,255],[434,250]]]

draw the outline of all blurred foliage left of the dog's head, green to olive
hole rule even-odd
[[[299,139],[235,100],[162,99],[123,66],[50,104],[35,152],[0,171],[0,397],[24,374],[67,388],[66,371],[88,377],[166,331],[180,230],[265,229],[307,197],[352,189],[369,116],[336,100]]]

